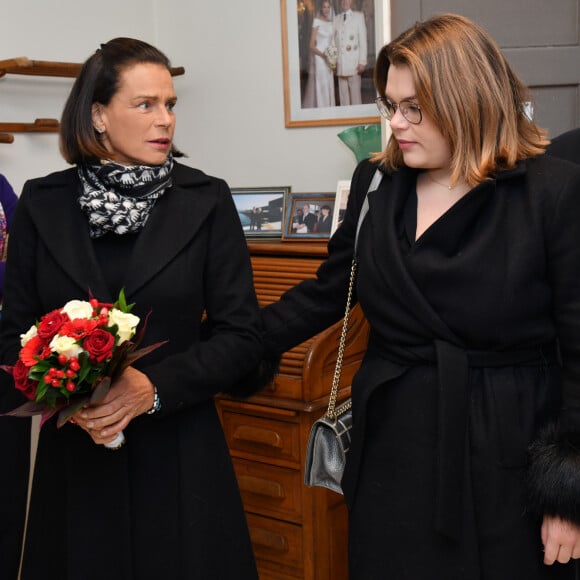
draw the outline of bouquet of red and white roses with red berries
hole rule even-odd
[[[16,364],[1,367],[29,399],[7,414],[40,414],[42,426],[58,413],[57,426],[62,427],[81,407],[100,401],[126,367],[164,344],[137,348],[147,321],[136,335],[140,320],[131,314],[133,306],[121,290],[113,304],[71,300],[42,316],[20,335]],[[121,432],[106,446],[118,448],[123,442]]]

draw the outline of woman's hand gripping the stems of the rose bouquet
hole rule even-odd
[[[134,417],[142,415],[153,406],[153,383],[147,375],[127,367],[112,384],[99,403],[81,409],[73,417],[95,443],[114,441],[117,433],[125,429]]]

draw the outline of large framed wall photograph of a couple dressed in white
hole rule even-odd
[[[280,0],[286,127],[379,123],[373,68],[384,4],[352,0],[345,16],[341,0]]]

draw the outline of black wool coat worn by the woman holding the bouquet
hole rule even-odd
[[[89,291],[102,301],[116,298],[96,259],[79,192],[75,169],[24,187],[7,264],[4,363],[14,362],[19,334],[42,314],[86,300]],[[22,577],[255,578],[213,403],[216,393],[235,392],[262,355],[249,253],[225,182],[176,163],[173,186],[157,201],[131,256],[127,300],[142,320],[150,312],[142,344],[168,341],[136,364],[156,385],[161,411],[134,419],[126,445],[114,452],[75,425],[56,429],[51,420],[42,427]],[[211,331],[202,340],[204,311]],[[0,393],[4,410],[22,402],[10,381]],[[17,476],[12,484],[26,487]],[[0,560],[0,577],[15,577],[4,565]]]

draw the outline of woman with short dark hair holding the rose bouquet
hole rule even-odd
[[[159,50],[101,45],[62,116],[75,167],[24,186],[1,360],[16,360],[20,333],[42,314],[89,292],[112,301],[121,288],[134,313],[151,311],[143,344],[168,341],[74,423],[42,427],[24,580],[256,578],[213,396],[236,392],[256,366],[259,311],[228,186],[175,160],[176,101]],[[0,393],[5,409],[21,402],[7,381]],[[107,449],[120,431],[126,444]],[[3,566],[0,576],[16,577]]]

